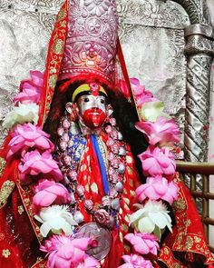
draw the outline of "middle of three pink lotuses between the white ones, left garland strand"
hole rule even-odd
[[[45,174],[48,179],[53,179],[56,182],[63,179],[58,165],[49,152],[40,154],[39,151],[34,150],[24,154],[21,161],[22,164],[19,165],[19,171],[20,180],[22,181],[26,179],[28,174],[33,176]]]

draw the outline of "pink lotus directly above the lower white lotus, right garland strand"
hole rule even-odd
[[[136,189],[136,195],[140,202],[146,198],[151,200],[165,200],[168,203],[173,203],[178,198],[178,186],[173,181],[168,183],[168,180],[160,175],[156,177],[148,177],[146,184],[141,184]]]

